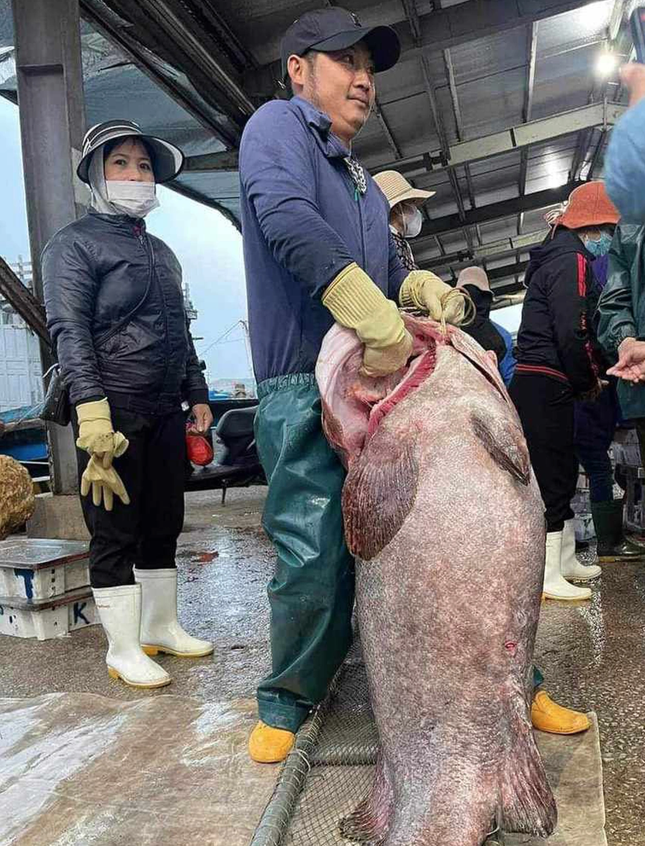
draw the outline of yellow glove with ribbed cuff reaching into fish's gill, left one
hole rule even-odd
[[[365,376],[388,376],[404,367],[412,352],[412,336],[405,328],[396,303],[352,263],[344,268],[323,294],[323,305],[334,320],[354,329],[365,344]]]

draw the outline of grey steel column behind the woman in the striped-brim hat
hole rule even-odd
[[[12,10],[34,293],[42,302],[43,247],[82,210],[73,175],[85,128],[78,0],[12,0]],[[45,344],[41,359],[47,369]],[[54,493],[73,493],[71,427],[47,432]]]

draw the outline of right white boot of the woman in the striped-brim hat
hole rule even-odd
[[[147,655],[167,652],[180,658],[210,655],[213,644],[185,632],[177,620],[177,570],[138,570],[143,591],[141,648]]]

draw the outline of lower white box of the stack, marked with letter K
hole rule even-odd
[[[89,588],[41,603],[10,597],[0,599],[0,634],[51,640],[98,622]]]

